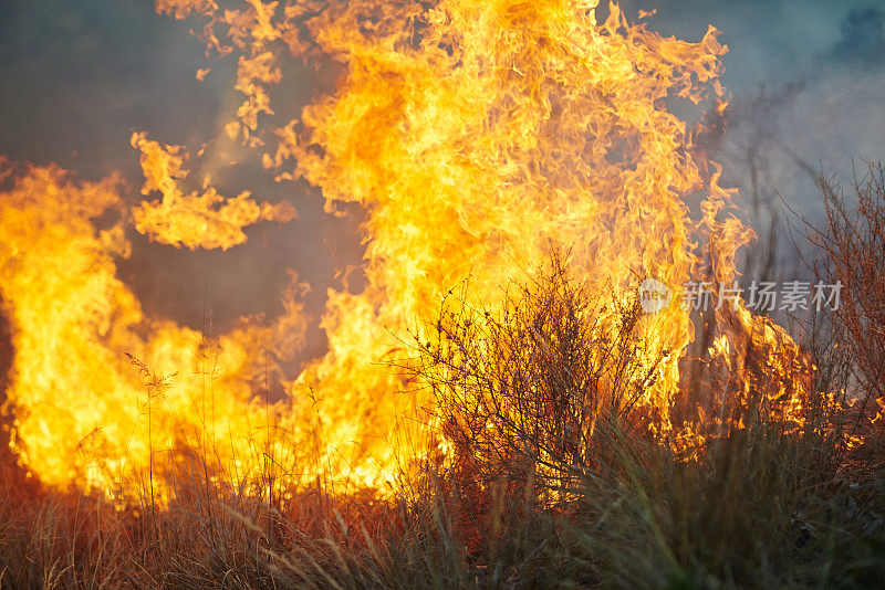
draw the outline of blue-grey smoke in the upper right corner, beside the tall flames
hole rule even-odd
[[[723,31],[730,108],[710,158],[739,188],[736,202],[760,235],[753,255],[773,256],[771,278],[809,280],[799,256],[808,244],[790,231],[789,210],[820,221],[814,175],[847,185],[863,160],[885,159],[885,11],[866,0],[635,4],[657,8],[653,25],[677,36],[700,34],[705,22]]]

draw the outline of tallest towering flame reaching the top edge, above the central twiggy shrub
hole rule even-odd
[[[586,3],[449,1],[426,14],[385,7],[366,32],[360,24],[375,8],[348,4],[308,21],[346,75],[334,96],[277,131],[266,160],[294,160],[289,176],[321,187],[329,210],[345,201],[369,211],[369,285],[348,299],[376,309],[372,325],[403,329],[431,316],[468,274],[477,299],[493,305],[500,285],[540,264],[551,241],[570,249],[577,278],[597,291],[626,288],[636,275],[687,280],[696,228],[683,197],[705,179],[685,124],[662,101],[715,92],[706,83],[726,51],[715,30],[687,43],[631,28],[616,7],[597,22]],[[415,46],[412,31],[425,22]],[[333,346],[315,369],[321,387],[342,364],[361,367],[378,352],[381,334],[342,317],[326,316],[327,334],[346,348]],[[678,303],[645,328],[649,358],[691,337]],[[643,401],[667,432],[678,358],[658,370]],[[360,399],[389,391],[367,386]]]

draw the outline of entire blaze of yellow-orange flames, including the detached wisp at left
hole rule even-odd
[[[714,28],[699,42],[665,38],[616,6],[603,19],[586,0],[157,0],[156,9],[191,19],[210,54],[237,56],[242,102],[225,127],[230,139],[281,182],[317,187],[329,214],[342,202],[365,209],[367,282],[357,294],[330,291],[327,352],[271,403],[259,394],[268,350],[291,358],[305,330],[294,273],[281,317],[244,318],[210,339],[146,317],[114,261],[128,255],[131,230],[175,247],[228,250],[259,220],[291,221],[294,208],[225,197],[208,179],[186,189],[188,148],[150,129],[132,137],[145,176],[134,206],[134,179],[83,182],[3,161],[0,299],[14,348],[7,411],[13,449],[41,482],[125,495],[150,474],[162,495],[162,474],[187,449],[235,481],[270,457],[305,484],[323,476],[384,494],[433,428],[410,420],[428,403],[420,388],[379,364],[402,346],[396,335],[433,318],[468,277],[470,297],[493,309],[500,287],[551,249],[568,250],[575,277],[610,297],[646,277],[674,289],[639,327],[649,361],[665,357],[639,400],[647,428],[690,454],[723,425],[702,411],[673,415],[695,335],[681,285],[699,276],[730,284],[736,253],[753,238],[729,212],[732,194],[695,145],[697,129],[671,110],[727,108],[718,80],[727,48]],[[287,60],[332,62],[341,77],[273,126]],[[693,215],[687,203],[698,194]],[[743,352],[752,346],[781,377],[767,407],[800,422],[808,379],[795,376],[810,368],[798,347],[746,306],[723,307],[711,355],[740,377],[742,390],[729,394],[760,389]],[[417,432],[393,434],[404,429]]]

